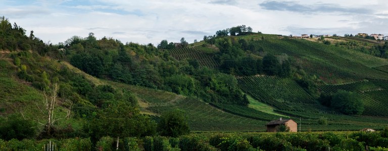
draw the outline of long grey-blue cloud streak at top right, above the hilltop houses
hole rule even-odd
[[[297,13],[352,13],[352,14],[368,14],[370,9],[364,8],[345,8],[336,4],[315,4],[301,5],[295,1],[279,2],[265,1],[259,4],[265,10],[271,11],[289,11]]]

